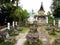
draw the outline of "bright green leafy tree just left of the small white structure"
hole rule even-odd
[[[29,13],[27,10],[23,10],[21,7],[16,7],[16,9],[11,12],[10,16],[14,19],[14,21],[25,23]]]

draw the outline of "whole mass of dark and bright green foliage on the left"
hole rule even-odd
[[[14,2],[16,3],[16,6],[14,6]],[[25,23],[25,20],[28,17],[27,10],[23,10],[21,7],[18,6],[19,0],[0,0],[0,8],[2,11],[2,16],[4,16],[3,20],[5,21],[5,18],[7,19],[6,22],[12,22],[12,21],[19,21]]]

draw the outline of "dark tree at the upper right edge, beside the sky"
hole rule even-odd
[[[51,5],[51,11],[55,18],[60,17],[60,0],[53,0]]]

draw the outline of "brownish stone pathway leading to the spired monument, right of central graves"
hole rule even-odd
[[[39,38],[42,39],[43,44],[44,45],[51,45],[50,44],[50,38],[45,31],[45,27],[44,26],[39,27],[38,32],[39,32]]]

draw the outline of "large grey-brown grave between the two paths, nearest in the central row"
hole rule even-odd
[[[30,44],[32,44],[33,42],[38,42],[38,40],[39,40],[39,35],[38,35],[38,33],[35,33],[35,34],[33,34],[33,33],[28,33],[27,36],[26,36],[26,38],[27,38],[28,42],[29,42]]]

